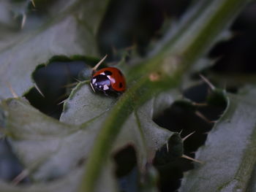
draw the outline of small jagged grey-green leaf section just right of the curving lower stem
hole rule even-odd
[[[167,91],[159,94],[140,107],[124,123],[116,145],[131,143],[135,146],[138,155],[138,167],[145,169],[146,163],[151,162],[155,152],[165,145],[172,133],[157,126],[152,120],[159,112],[165,110],[178,98],[176,91]]]

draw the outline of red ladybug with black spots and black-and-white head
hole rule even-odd
[[[104,60],[103,58],[102,60]],[[101,64],[102,61],[99,61]],[[116,67],[106,67],[96,71],[97,67],[94,66],[91,74],[91,88],[94,92],[99,91],[104,93],[106,96],[119,95],[126,89],[126,82],[124,74],[121,73]]]

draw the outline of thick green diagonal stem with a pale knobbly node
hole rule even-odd
[[[176,34],[143,64],[129,72],[131,88],[121,96],[102,125],[86,164],[80,192],[94,191],[105,161],[125,120],[155,94],[175,87],[184,72],[214,44],[249,0],[214,0],[200,4]]]

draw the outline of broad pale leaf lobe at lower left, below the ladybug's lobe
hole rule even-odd
[[[7,107],[7,134],[20,161],[35,180],[69,172],[86,158],[97,129],[68,126],[35,110],[26,101],[12,99]],[[31,121],[32,120],[32,121]],[[88,125],[99,127],[99,121]]]

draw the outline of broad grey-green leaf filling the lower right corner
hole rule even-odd
[[[205,163],[184,177],[180,191],[246,191],[249,182],[255,185],[255,96],[254,87],[229,94],[227,111],[196,153]]]

